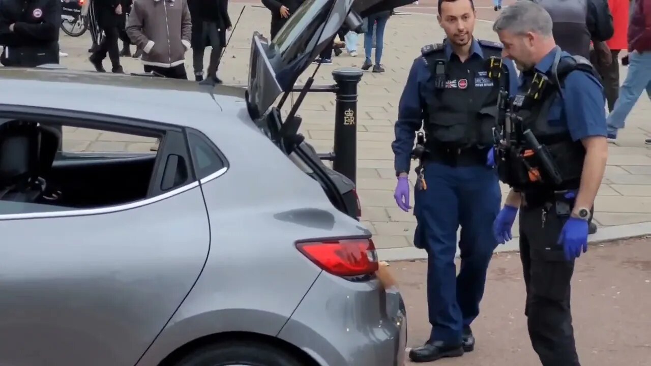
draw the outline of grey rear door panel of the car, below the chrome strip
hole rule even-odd
[[[0,216],[0,364],[134,365],[208,255],[204,201],[192,186],[128,210]]]

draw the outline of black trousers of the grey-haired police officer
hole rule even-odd
[[[519,216],[520,259],[527,288],[527,327],[543,366],[580,366],[570,312],[574,260],[557,244],[567,216],[554,204],[523,206]]]

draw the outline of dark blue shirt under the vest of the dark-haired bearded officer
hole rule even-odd
[[[447,61],[452,57],[452,46],[446,42],[445,57]],[[473,38],[469,57],[481,57],[484,59],[482,48]],[[505,59],[506,67],[509,70],[509,91],[514,93],[518,89],[518,74],[513,61]],[[395,154],[395,169],[397,172],[408,172],[411,160],[411,150],[416,138],[416,132],[422,128],[422,121],[425,117],[425,102],[427,95],[434,94],[434,83],[432,82],[430,70],[422,57],[413,61],[407,83],[400,96],[398,104],[398,120],[395,124],[396,139],[391,143]],[[602,108],[603,109],[603,108]]]

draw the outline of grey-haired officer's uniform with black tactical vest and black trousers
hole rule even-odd
[[[562,94],[566,77],[576,70],[589,77],[581,76],[585,85],[573,81],[573,91],[598,87],[592,65],[559,48],[535,70],[523,72],[507,113],[510,120],[503,125],[510,145],[496,148],[500,180],[523,196],[519,244],[527,288],[525,314],[531,343],[544,366],[579,366],[570,313],[574,260],[566,259],[559,236],[574,208],[583,171],[585,148],[580,140],[606,133],[603,99],[602,117],[592,118],[586,114],[594,106],[581,106],[581,100],[572,100],[576,96]],[[568,115],[569,109],[581,109],[583,119],[601,123],[587,126]]]

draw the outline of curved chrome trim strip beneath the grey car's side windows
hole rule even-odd
[[[74,216],[91,216],[91,215],[100,215],[100,214],[111,214],[113,212],[132,210],[133,208],[139,208],[139,207],[147,206],[148,204],[157,203],[159,201],[163,201],[164,199],[168,199],[170,197],[174,197],[175,195],[179,195],[180,193],[184,193],[185,191],[189,191],[189,190],[191,190],[193,188],[197,188],[197,187],[199,187],[200,183],[201,184],[206,184],[206,183],[210,182],[211,180],[219,178],[219,176],[224,175],[224,173],[226,173],[227,170],[228,170],[227,167],[223,167],[223,168],[219,169],[218,171],[215,171],[215,173],[212,173],[211,175],[208,175],[205,178],[202,178],[201,180],[195,180],[194,182],[186,184],[185,186],[181,186],[181,187],[176,188],[174,190],[171,190],[169,192],[163,193],[161,195],[157,195],[156,197],[143,199],[141,201],[135,201],[135,202],[124,203],[124,204],[117,204],[115,206],[108,206],[108,207],[101,207],[101,208],[88,208],[88,209],[83,209],[83,210],[68,210],[68,211],[55,211],[55,212],[31,212],[31,213],[25,213],[25,214],[4,214],[4,215],[0,214],[0,221],[4,221],[4,220],[20,220],[20,219],[69,218],[69,217],[74,217]],[[2,204],[2,201],[0,201],[0,204]]]

